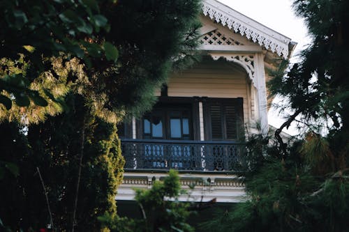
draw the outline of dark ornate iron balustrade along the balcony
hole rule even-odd
[[[125,169],[241,171],[246,148],[234,141],[122,139]]]

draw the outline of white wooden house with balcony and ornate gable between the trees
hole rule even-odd
[[[216,0],[202,2],[200,19],[206,56],[172,75],[151,113],[125,127],[117,201],[133,200],[135,187],[151,187],[168,169],[179,170],[184,188],[195,185],[191,200],[242,201],[244,125],[268,131],[267,69],[295,43]]]

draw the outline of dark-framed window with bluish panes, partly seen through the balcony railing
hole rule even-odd
[[[158,102],[139,122],[142,139],[193,140],[193,109],[198,111],[193,98],[165,98]],[[186,144],[144,145],[148,167],[186,169],[191,166],[191,154],[191,146]]]

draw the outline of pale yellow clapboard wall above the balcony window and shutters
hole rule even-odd
[[[168,82],[169,97],[243,98],[244,121],[251,118],[251,84],[244,68],[205,57],[186,71],[172,74]],[[250,107],[248,107],[250,105]]]

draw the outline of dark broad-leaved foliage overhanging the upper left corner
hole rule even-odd
[[[113,45],[98,46],[102,39],[101,29],[106,32],[110,29],[107,18],[101,15],[101,8],[109,4],[114,3],[94,0],[2,1],[1,58],[18,61],[23,57],[33,72],[25,82],[16,75],[1,75],[0,91],[15,95],[18,106],[29,106],[29,98],[36,105],[45,106],[47,102],[38,91],[29,88],[34,79],[50,69],[45,66],[43,57],[64,52],[72,58],[82,59],[87,66],[90,59],[103,59],[103,54],[110,60],[110,53],[115,54],[117,48]],[[90,47],[94,47],[93,52],[90,52]],[[112,58],[112,61],[117,60],[117,56]],[[10,109],[8,99],[1,98],[1,103]]]

